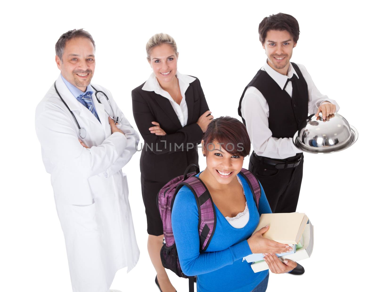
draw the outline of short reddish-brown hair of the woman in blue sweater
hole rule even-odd
[[[241,121],[229,116],[215,118],[208,124],[204,137],[204,153],[207,154],[208,146],[216,140],[232,155],[247,156],[250,154],[250,138]]]

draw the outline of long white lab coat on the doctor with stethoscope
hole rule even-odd
[[[38,104],[35,128],[66,242],[74,292],[107,292],[115,272],[131,270],[139,258],[128,185],[122,167],[136,152],[139,136],[120,111],[109,91],[118,126],[125,135],[111,134],[107,100],[100,93],[93,103],[101,123],[69,91],[59,76],[57,89],[77,118],[86,137],[81,139],[74,118],[58,97],[54,85]],[[105,112],[106,111],[106,112]],[[89,146],[81,146],[78,139]]]

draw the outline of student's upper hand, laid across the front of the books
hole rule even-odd
[[[267,225],[248,238],[247,243],[250,246],[251,252],[253,254],[281,254],[283,252],[290,252],[292,247],[288,246],[288,244],[278,243],[262,236],[269,228],[270,227]]]

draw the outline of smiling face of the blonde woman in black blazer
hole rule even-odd
[[[150,52],[149,64],[161,84],[170,83],[177,74],[178,55],[169,44],[154,47]]]

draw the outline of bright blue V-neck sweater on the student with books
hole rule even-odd
[[[198,275],[198,292],[251,291],[268,274],[268,270],[254,273],[250,263],[242,258],[251,254],[247,239],[258,225],[260,214],[271,213],[270,205],[261,187],[258,212],[247,181],[239,174],[238,177],[244,188],[249,221],[243,228],[234,228],[215,205],[216,229],[207,250],[202,253],[199,253],[199,214],[194,194],[183,186],[176,195],[172,227],[179,263],[185,275]]]

